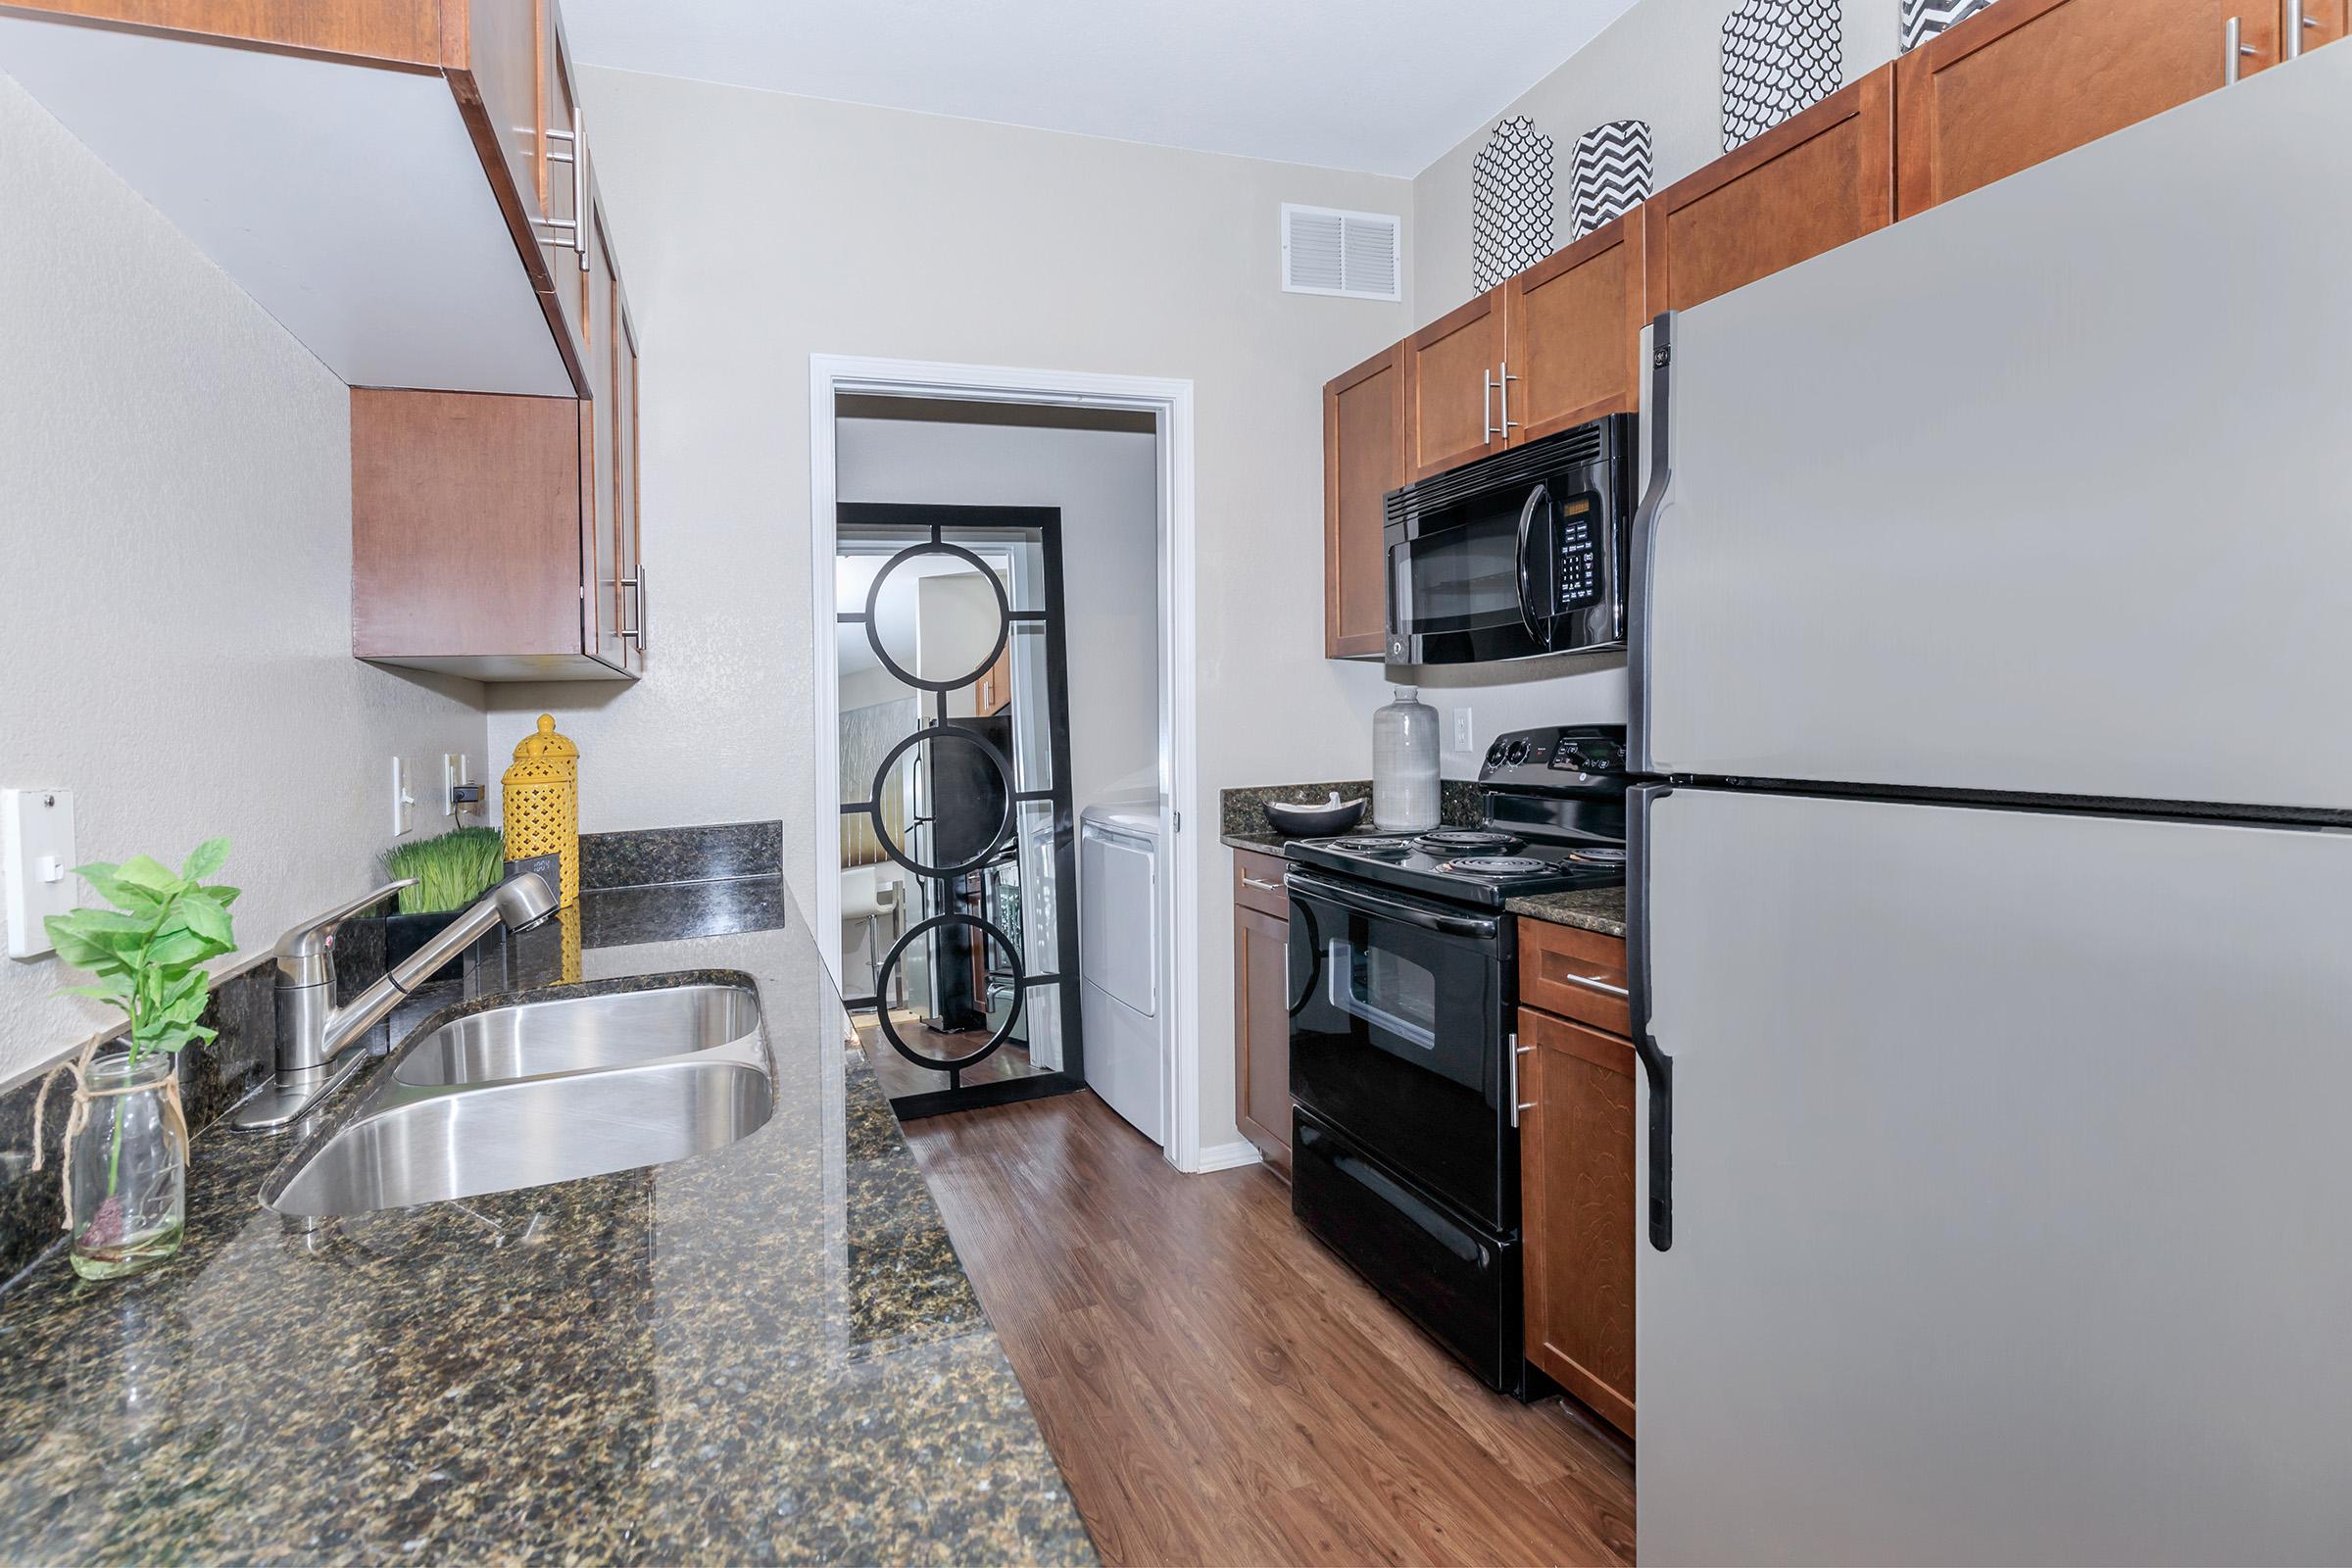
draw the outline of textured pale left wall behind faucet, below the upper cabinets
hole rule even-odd
[[[5,75],[0,559],[0,785],[85,860],[226,832],[247,952],[376,877],[395,752],[480,776],[480,686],[350,656],[350,393]],[[111,1018],[71,980],[0,959],[0,1081]]]

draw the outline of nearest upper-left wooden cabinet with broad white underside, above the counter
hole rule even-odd
[[[0,33],[9,75],[346,383],[583,397],[553,5],[7,0]]]

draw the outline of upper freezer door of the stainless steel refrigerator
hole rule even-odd
[[[2347,188],[2317,49],[1679,313],[1649,766],[2352,809]]]

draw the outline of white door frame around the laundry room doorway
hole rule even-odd
[[[1218,1147],[1204,1159],[1200,1147],[1200,867],[1190,849],[1190,837],[1181,832],[1183,809],[1195,797],[1195,736],[1200,733],[1200,708],[1192,691],[1192,383],[1155,376],[1098,376],[1091,371],[809,355],[809,684],[818,802],[814,844],[816,933],[835,985],[842,978],[840,940],[828,940],[826,933],[837,931],[842,924],[842,837],[840,816],[835,813],[835,802],[842,797],[842,750],[840,672],[835,665],[837,604],[833,599],[835,503],[840,498],[835,473],[835,397],[842,393],[1134,409],[1152,416],[1160,433],[1160,842],[1167,846],[1169,865],[1160,910],[1162,929],[1169,933],[1169,985],[1162,992],[1169,1030],[1167,1159],[1178,1171],[1240,1164],[1242,1157],[1235,1150]],[[1242,1150],[1247,1147],[1242,1145]],[[1249,1152],[1254,1154],[1254,1150]]]

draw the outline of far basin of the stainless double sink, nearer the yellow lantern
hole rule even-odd
[[[402,1084],[492,1084],[713,1051],[757,1032],[760,994],[748,985],[515,1001],[445,1023],[402,1051],[393,1074]]]

